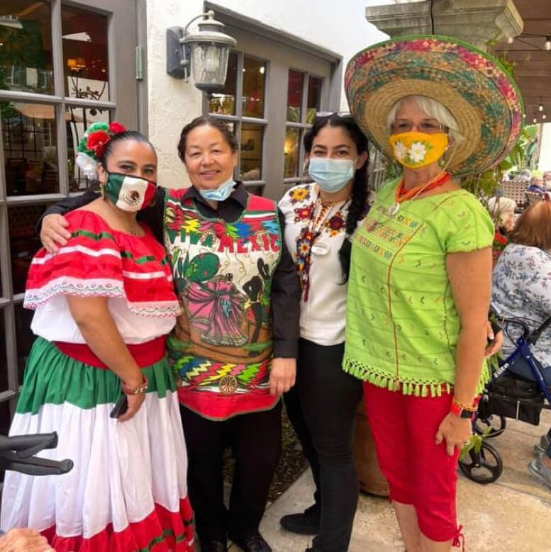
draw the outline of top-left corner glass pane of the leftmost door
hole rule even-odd
[[[53,94],[52,26],[46,2],[1,2],[0,89]]]

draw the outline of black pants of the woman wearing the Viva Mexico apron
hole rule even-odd
[[[266,412],[213,421],[181,407],[188,490],[199,540],[245,539],[257,533],[282,449],[281,401]],[[229,510],[223,500],[223,451],[235,457]]]

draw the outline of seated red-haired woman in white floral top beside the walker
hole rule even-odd
[[[551,316],[551,201],[535,203],[525,210],[509,240],[494,269],[491,304],[502,317],[523,318],[530,329],[535,329]],[[504,353],[510,353],[514,347],[506,335]],[[544,372],[551,371],[551,327],[542,332],[530,349]],[[551,429],[535,445],[538,455],[528,469],[551,487],[550,437]]]

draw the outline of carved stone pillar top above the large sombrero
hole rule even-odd
[[[366,8],[365,18],[392,38],[432,33],[448,35],[472,43],[485,52],[489,40],[505,40],[520,35],[523,30],[523,20],[513,0],[425,0],[385,4]]]

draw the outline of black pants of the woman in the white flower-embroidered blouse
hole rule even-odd
[[[343,371],[344,344],[299,341],[296,385],[284,395],[321,503],[316,551],[346,552],[358,500],[352,439],[362,383]]]

